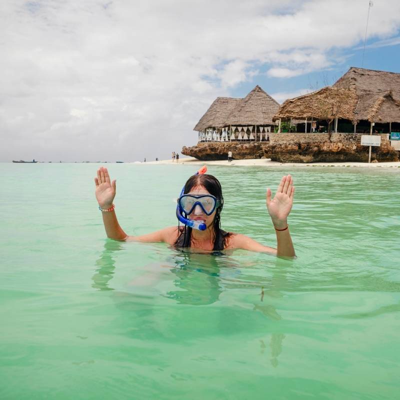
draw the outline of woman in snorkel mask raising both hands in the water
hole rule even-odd
[[[269,188],[266,190],[266,208],[276,231],[277,248],[265,246],[244,234],[225,232],[221,229],[222,189],[218,179],[212,175],[199,171],[186,181],[178,198],[177,206],[178,219],[186,221],[183,226],[168,226],[140,236],[129,236],[119,226],[113,204],[116,184],[115,180],[110,180],[107,168],[100,167],[97,170],[97,177],[94,178],[94,182],[99,209],[103,211],[105,232],[107,237],[111,239],[142,242],[159,241],[175,247],[191,247],[206,251],[242,248],[267,252],[281,257],[295,256],[287,224],[287,216],[290,213],[294,195],[291,175],[282,177],[273,198],[271,198],[271,190]],[[192,228],[190,225],[196,228]]]

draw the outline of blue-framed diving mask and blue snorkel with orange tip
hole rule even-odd
[[[199,175],[205,172],[207,172],[207,167],[204,165],[194,175]],[[193,229],[205,230],[207,225],[204,223],[204,221],[194,221],[192,219],[188,219],[187,215],[190,214],[197,205],[200,206],[206,215],[211,215],[217,206],[218,200],[210,194],[193,196],[191,194],[183,193],[184,186],[180,192],[178,203],[176,205],[176,217],[186,226],[189,226]]]

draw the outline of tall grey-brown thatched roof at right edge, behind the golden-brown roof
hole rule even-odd
[[[354,90],[357,94],[358,120],[400,121],[400,73],[352,66],[333,86]]]

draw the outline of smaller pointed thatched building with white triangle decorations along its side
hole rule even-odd
[[[277,122],[279,103],[260,86],[244,98],[217,97],[193,130],[198,141],[266,141]]]

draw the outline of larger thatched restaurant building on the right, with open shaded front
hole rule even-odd
[[[278,132],[400,131],[400,73],[350,67],[332,86],[283,102]]]

